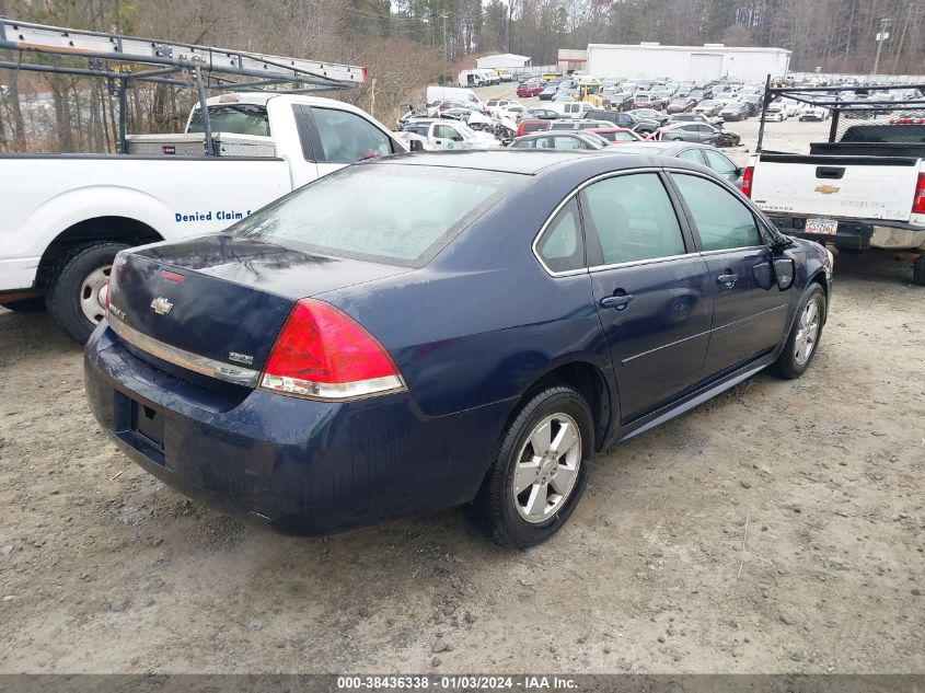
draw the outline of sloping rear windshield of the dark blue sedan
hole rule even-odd
[[[229,231],[322,255],[417,267],[524,177],[441,166],[348,166]]]

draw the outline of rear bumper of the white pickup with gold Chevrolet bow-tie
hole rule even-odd
[[[833,235],[805,233],[807,216],[779,217],[768,215],[775,226],[787,235],[831,243],[836,247],[866,250],[925,250],[925,229],[900,222],[883,222],[877,219],[845,221],[839,219],[839,231]]]

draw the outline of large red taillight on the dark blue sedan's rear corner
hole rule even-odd
[[[351,400],[405,389],[389,351],[329,303],[302,299],[276,338],[261,386],[315,400]]]

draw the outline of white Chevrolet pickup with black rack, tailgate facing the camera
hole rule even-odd
[[[825,106],[833,106],[830,141],[813,142],[809,154],[753,155],[742,192],[785,233],[897,252],[913,261],[913,282],[925,285],[925,101],[814,107]]]

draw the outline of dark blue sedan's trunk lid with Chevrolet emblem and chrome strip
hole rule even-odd
[[[142,357],[253,385],[296,301],[404,272],[207,235],[120,254],[108,320]]]

